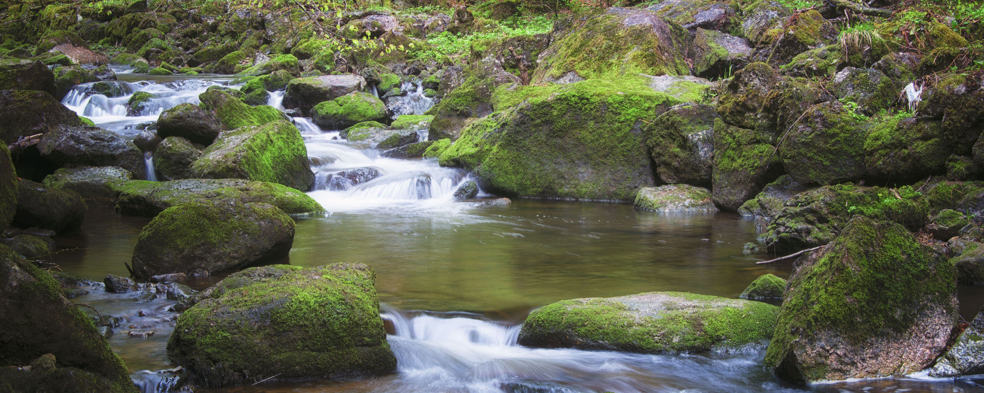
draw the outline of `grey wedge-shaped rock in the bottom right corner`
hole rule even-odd
[[[937,378],[979,374],[984,371],[984,310],[977,312],[953,346],[929,370]]]

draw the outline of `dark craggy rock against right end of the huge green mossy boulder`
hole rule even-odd
[[[643,126],[643,137],[661,181],[710,187],[717,117],[710,105],[685,103]]]

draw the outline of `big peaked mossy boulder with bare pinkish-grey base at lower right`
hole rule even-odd
[[[801,258],[765,364],[787,380],[904,375],[947,347],[956,269],[901,225],[856,217]]]

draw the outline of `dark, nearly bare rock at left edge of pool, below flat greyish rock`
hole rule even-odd
[[[13,224],[21,228],[71,231],[82,225],[86,201],[78,193],[21,179],[17,183],[17,213]]]

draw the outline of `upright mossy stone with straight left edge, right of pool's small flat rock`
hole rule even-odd
[[[752,130],[714,119],[711,190],[714,204],[735,211],[782,174],[775,147]]]

